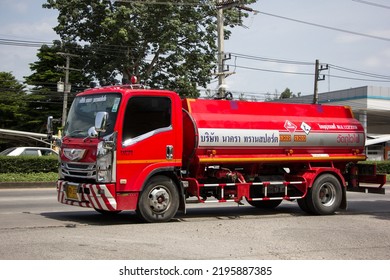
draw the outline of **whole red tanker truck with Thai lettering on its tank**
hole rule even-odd
[[[269,209],[296,200],[329,215],[346,209],[347,190],[384,193],[386,180],[361,164],[364,128],[345,106],[101,87],[76,96],[57,145],[59,202],[132,210],[146,222],[169,221],[190,202]]]

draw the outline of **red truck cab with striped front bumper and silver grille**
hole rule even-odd
[[[139,209],[145,182],[180,169],[182,135],[174,92],[114,86],[77,95],[60,143],[58,200],[106,214]],[[146,203],[163,214],[175,202],[176,213],[179,192],[170,192],[155,188]]]

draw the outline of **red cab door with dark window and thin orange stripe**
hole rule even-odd
[[[158,171],[181,165],[181,131],[172,96],[132,96],[123,114],[118,149],[119,191],[139,191]],[[179,146],[178,146],[179,145]]]

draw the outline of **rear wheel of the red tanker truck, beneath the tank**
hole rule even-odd
[[[331,174],[320,175],[306,198],[308,210],[315,215],[331,215],[339,209],[342,190],[339,180]]]

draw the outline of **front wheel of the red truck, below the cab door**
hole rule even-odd
[[[159,223],[171,220],[179,208],[179,192],[171,179],[152,178],[138,199],[137,214],[145,222]]]

